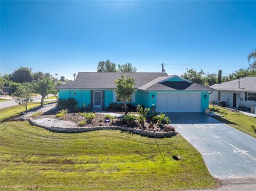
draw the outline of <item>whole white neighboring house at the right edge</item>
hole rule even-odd
[[[225,101],[228,106],[235,108],[245,106],[251,109],[251,106],[256,106],[256,77],[245,77],[210,87],[218,90],[210,95],[210,101]]]

